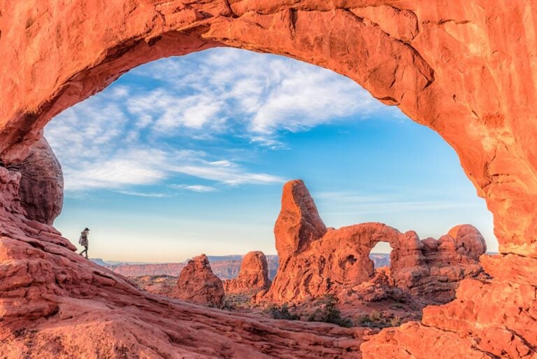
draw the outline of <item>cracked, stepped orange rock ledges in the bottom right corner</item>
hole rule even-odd
[[[426,307],[422,323],[382,330],[361,346],[364,359],[537,358],[537,260],[482,255],[492,280],[465,279],[457,298]],[[508,265],[501,265],[508,264]]]

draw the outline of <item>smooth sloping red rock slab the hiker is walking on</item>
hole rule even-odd
[[[0,358],[359,358],[361,329],[273,321],[167,300],[85,260],[26,218],[0,167]]]

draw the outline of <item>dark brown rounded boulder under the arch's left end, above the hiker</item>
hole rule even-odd
[[[24,160],[7,168],[21,174],[19,197],[27,218],[52,225],[64,204],[64,176],[43,134]]]

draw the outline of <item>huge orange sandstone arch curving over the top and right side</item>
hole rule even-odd
[[[472,350],[475,358],[526,357],[537,346],[537,316],[530,313],[537,285],[536,9],[534,0],[2,0],[0,157],[5,164],[24,159],[50,118],[160,57],[227,45],[327,67],[441,134],[494,213],[502,255],[483,261],[495,281],[467,282],[477,289],[461,286],[457,304],[425,312],[428,328],[401,332],[458,330],[466,335],[462,344],[456,335],[441,344]],[[17,178],[1,175],[8,208],[17,201]],[[15,207],[6,212],[19,227],[23,217]],[[14,241],[2,246],[2,258],[24,261],[22,251],[10,251]],[[45,262],[55,260],[50,255]],[[509,290],[521,299],[514,303],[504,295]],[[62,295],[74,295],[68,292]],[[482,299],[487,293],[501,299]],[[474,311],[513,310],[518,321],[462,318],[470,304]],[[408,335],[376,338],[364,346],[369,358],[375,341],[404,342],[420,358],[420,345],[427,346]]]

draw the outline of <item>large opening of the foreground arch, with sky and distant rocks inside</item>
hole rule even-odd
[[[152,62],[66,109],[45,136],[65,174],[57,228],[76,238],[87,221],[97,263],[173,300],[231,311],[292,304],[322,321],[329,296],[342,323],[389,326],[452,300],[461,279],[481,272],[485,246],[471,258],[455,245],[429,255],[417,234],[378,222],[441,237],[442,226],[477,220],[492,237],[480,200],[457,192],[471,186],[435,134],[352,81],[290,59],[214,49]],[[279,209],[294,176],[318,198],[287,182]],[[334,230],[317,218],[318,237],[289,238],[289,201],[306,203],[297,216],[310,221],[314,199],[336,223],[377,220]],[[394,248],[389,269],[369,260],[380,242]],[[257,249],[272,261],[261,253],[241,265]],[[205,252],[213,256],[183,262]]]

